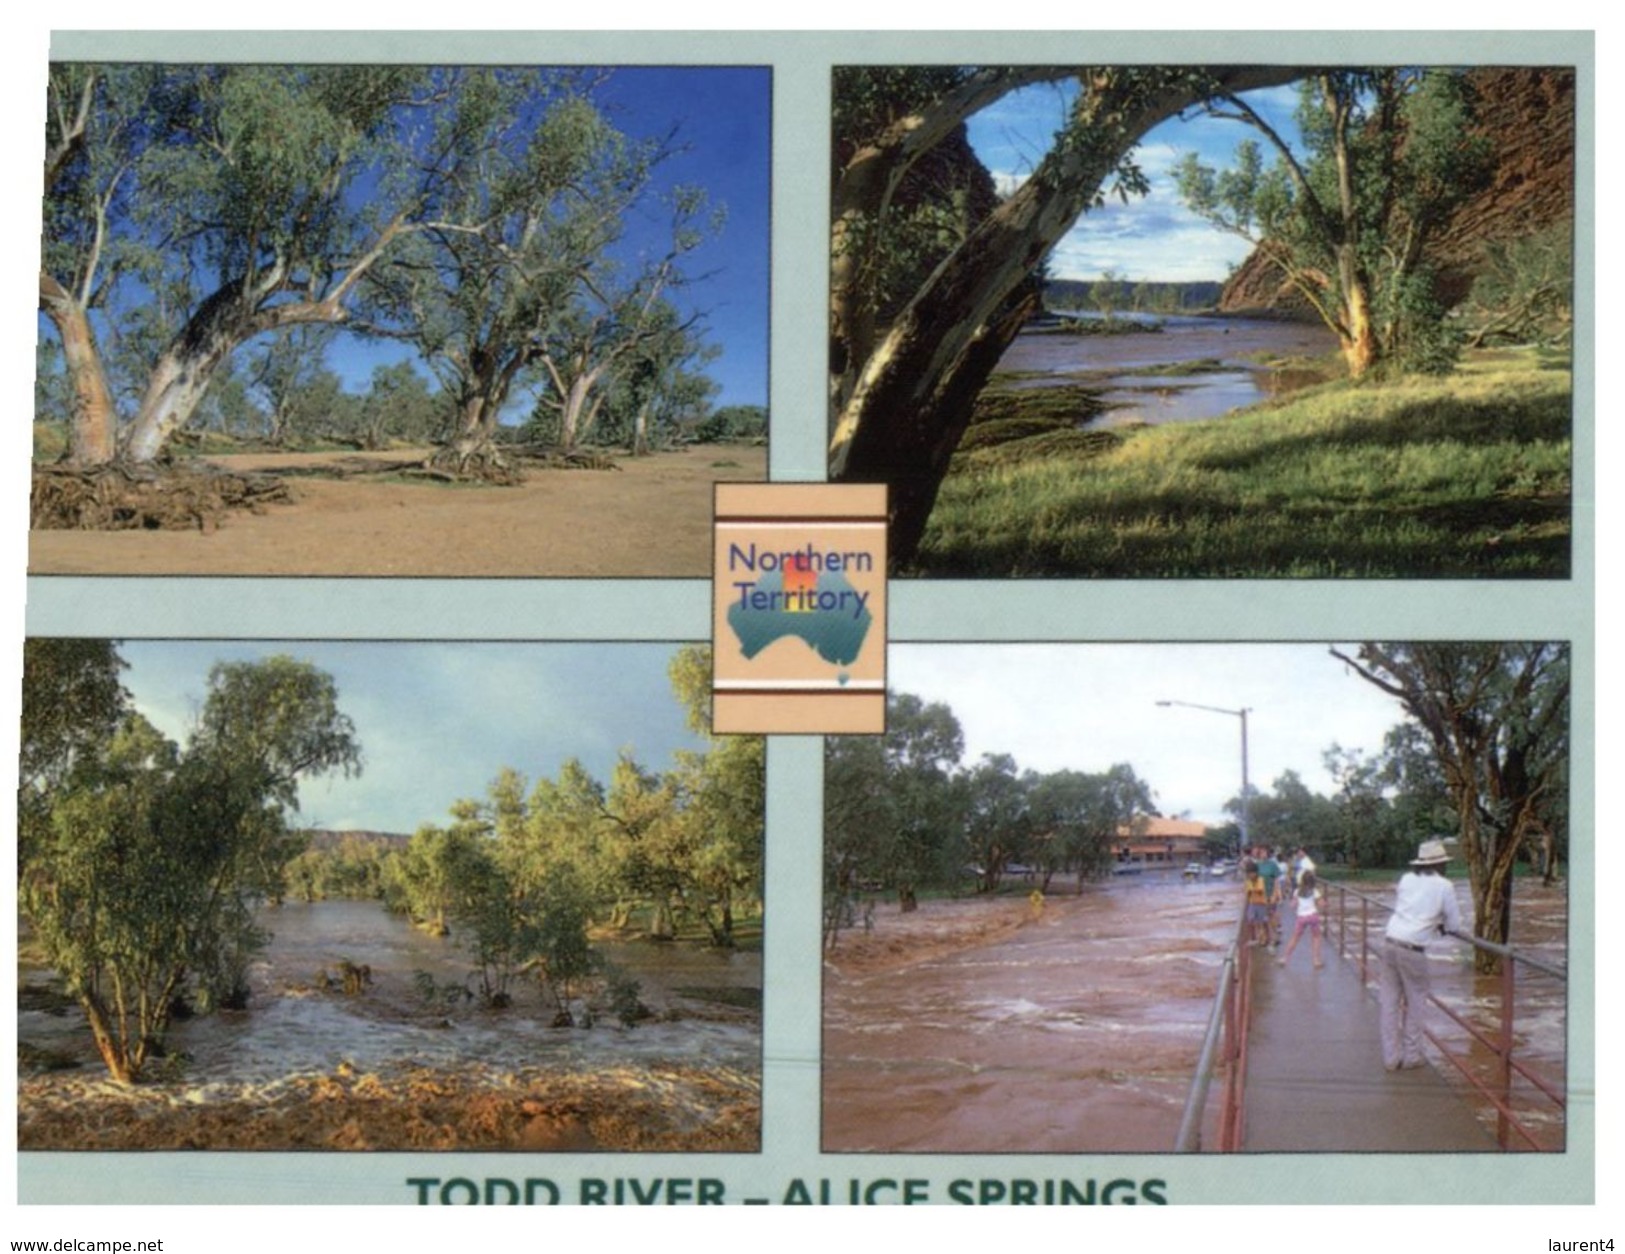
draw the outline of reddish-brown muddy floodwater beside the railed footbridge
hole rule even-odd
[[[1170,1150],[1238,893],[1147,874],[1058,892],[1038,918],[1020,897],[879,908],[874,931],[843,937],[826,963],[824,1148]],[[1514,944],[1565,963],[1563,892],[1519,893]],[[1490,1012],[1495,981],[1472,973],[1464,945],[1435,962],[1435,992]],[[1518,997],[1519,1057],[1562,1083],[1562,981],[1528,978]],[[1446,1040],[1466,1038],[1436,1020]],[[1547,1140],[1550,1118],[1534,1116]]]

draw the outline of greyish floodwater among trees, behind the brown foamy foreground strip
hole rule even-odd
[[[474,999],[426,1002],[418,971],[442,991],[476,988],[453,942],[426,936],[375,902],[317,902],[266,910],[273,932],[250,968],[247,1010],[179,1022],[171,1051],[187,1056],[180,1085],[190,1100],[237,1098],[294,1077],[390,1072],[405,1067],[502,1077],[520,1067],[588,1070],[608,1066],[699,1066],[760,1074],[762,984],[759,953],[676,944],[606,942],[596,949],[642,984],[655,1018],[622,1030],[608,1012],[588,1028],[554,1028],[554,1005],[535,979],[517,979],[514,1007],[486,1010]],[[366,963],[374,983],[361,996],[325,989],[318,973]],[[24,981],[46,973],[24,971]],[[582,1001],[572,1007],[577,1014]],[[99,1085],[106,1072],[76,1010],[23,1009],[24,1044],[83,1059],[62,1083]]]

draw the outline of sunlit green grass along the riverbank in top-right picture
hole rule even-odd
[[[1046,391],[1072,390],[1001,390],[996,421]],[[1565,577],[1570,393],[1565,372],[1502,352],[1115,432],[1063,429],[1079,398],[1045,398],[1040,429],[956,455],[907,573]]]

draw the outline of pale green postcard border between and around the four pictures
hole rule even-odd
[[[824,478],[829,93],[843,63],[1571,65],[1576,84],[1575,541],[1562,582],[1043,582],[892,586],[892,640],[1505,638],[1573,643],[1568,1150],[1555,1155],[822,1155],[822,752],[769,752],[762,1152],[756,1155],[21,1153],[23,1202],[410,1204],[413,1176],[1165,1181],[1172,1204],[1586,1204],[1596,1191],[1594,39],[1589,32],[58,32],[63,60],[728,63],[774,68],[770,468]],[[31,578],[39,635],[678,640],[699,580]],[[1581,835],[1584,833],[1584,835]],[[15,1014],[15,1012],[11,1012]],[[1289,1238],[1290,1239],[1290,1238]]]

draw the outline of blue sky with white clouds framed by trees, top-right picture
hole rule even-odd
[[[977,114],[970,123],[970,146],[993,174],[1001,192],[1019,187],[1048,151],[1071,104],[1061,84],[1024,88]],[[1294,110],[1295,86],[1246,93],[1289,143],[1298,141]],[[1051,255],[1051,273],[1064,279],[1097,279],[1113,270],[1128,279],[1178,281],[1224,279],[1251,245],[1214,229],[1180,203],[1172,169],[1180,158],[1198,153],[1204,164],[1230,164],[1235,146],[1259,136],[1251,128],[1222,119],[1191,117],[1164,122],[1146,135],[1138,149],[1141,169],[1150,180],[1150,195],[1128,201],[1112,197],[1090,210],[1061,239]],[[1266,149],[1266,161],[1272,154]]]

